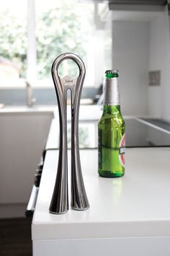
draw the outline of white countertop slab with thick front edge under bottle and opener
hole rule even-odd
[[[69,156],[68,153],[68,162]],[[81,150],[90,208],[87,211],[70,208],[68,213],[54,215],[48,208],[58,151],[48,150],[32,220],[32,239],[169,236],[169,157],[170,148],[127,149],[125,176],[109,179],[98,176],[97,149]]]

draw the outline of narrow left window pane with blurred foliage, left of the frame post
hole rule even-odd
[[[19,77],[26,76],[27,1],[2,1],[0,17],[0,77],[2,83],[6,79],[16,81]]]

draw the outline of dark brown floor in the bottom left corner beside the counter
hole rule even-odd
[[[0,255],[32,256],[32,219],[0,219]]]

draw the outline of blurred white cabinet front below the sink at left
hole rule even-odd
[[[0,207],[27,203],[52,119],[52,110],[1,110]]]

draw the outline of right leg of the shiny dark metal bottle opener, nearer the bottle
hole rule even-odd
[[[79,155],[79,105],[86,71],[80,58],[76,63],[80,76],[71,90],[71,208],[82,211],[89,208]]]

